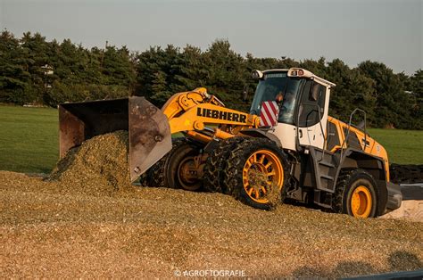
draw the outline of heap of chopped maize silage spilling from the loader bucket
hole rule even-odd
[[[130,187],[128,150],[127,131],[95,136],[67,152],[47,180],[63,192],[112,195]]]

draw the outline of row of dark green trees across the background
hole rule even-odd
[[[39,33],[0,36],[0,103],[56,106],[64,102],[142,95],[157,106],[173,94],[207,87],[229,108],[249,111],[256,81],[252,70],[302,67],[334,83],[330,114],[348,120],[351,111],[367,111],[374,128],[422,129],[423,71],[408,76],[384,63],[365,61],[350,68],[339,59],[295,61],[245,57],[216,40],[209,48],[187,45],[126,46],[87,49],[69,39],[46,41]],[[248,98],[243,99],[244,92]]]

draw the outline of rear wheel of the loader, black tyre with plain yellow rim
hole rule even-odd
[[[357,218],[377,216],[377,184],[363,169],[342,169],[332,205],[337,213]]]

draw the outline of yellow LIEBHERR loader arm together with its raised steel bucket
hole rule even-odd
[[[171,135],[207,143],[257,128],[259,118],[226,108],[203,87],[170,97],[159,110],[144,97],[63,103],[59,106],[60,154],[93,136],[129,131],[129,171],[134,181],[171,150]]]

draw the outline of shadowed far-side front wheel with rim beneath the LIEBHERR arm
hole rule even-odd
[[[200,156],[195,144],[180,144],[170,152],[164,166],[165,185],[197,191],[203,185],[201,168],[196,168],[195,157]]]

